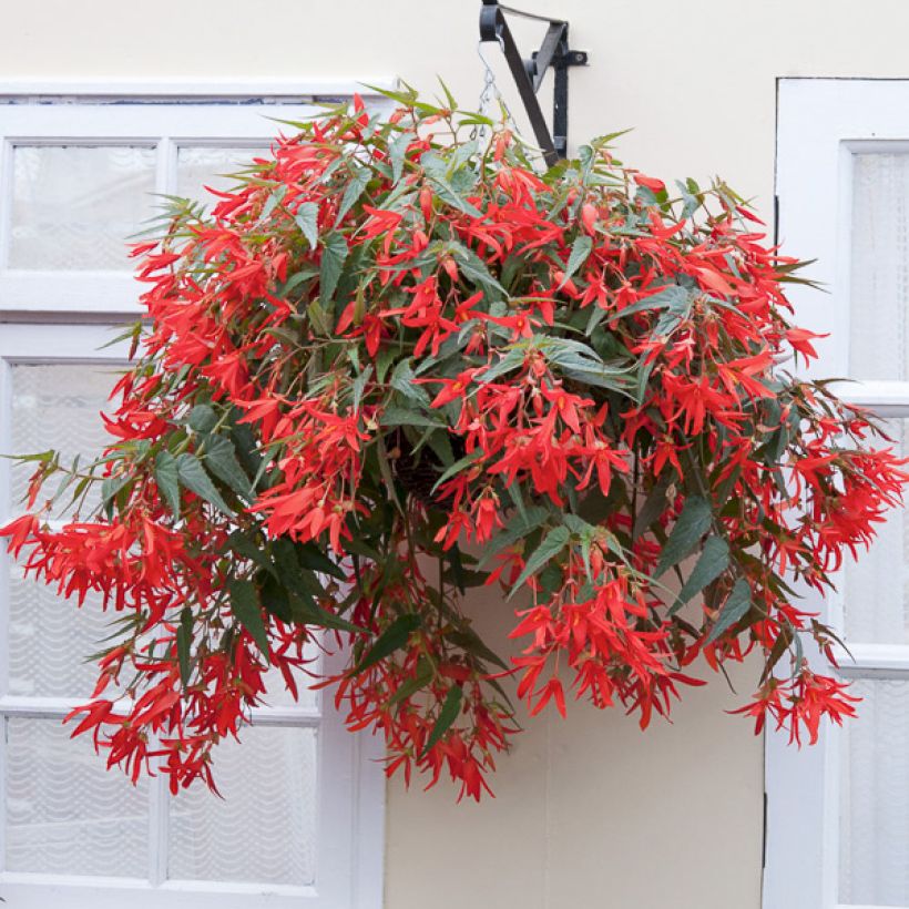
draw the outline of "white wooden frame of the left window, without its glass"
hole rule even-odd
[[[394,86],[392,80],[369,82]],[[319,100],[334,102],[355,91],[379,111],[391,106],[380,95],[353,83],[0,83],[0,192],[9,192],[11,152],[18,143],[109,142],[155,143],[156,188],[161,192],[172,180],[178,145],[267,145],[282,129],[268,118],[299,120],[314,113]],[[0,195],[4,197],[9,196]],[[6,229],[7,217],[0,212],[0,249]],[[60,298],[61,284],[67,287],[65,299]],[[124,345],[102,347],[113,337],[113,325],[124,316],[140,314],[139,289],[129,272],[24,273],[6,268],[0,261],[0,448],[9,438],[11,366],[124,361]],[[0,461],[0,521],[13,508],[4,500],[8,472],[8,462]],[[0,556],[0,569],[7,558]],[[6,653],[7,609],[0,589],[0,660]],[[6,677],[1,665],[0,677]],[[62,698],[20,697],[0,691],[3,722],[9,716],[61,717],[71,706]],[[347,732],[331,705],[330,693],[320,699],[320,708],[263,707],[254,711],[254,719],[261,725],[318,728],[318,833],[313,886],[165,880],[160,859],[150,862],[149,881],[11,872],[2,869],[0,824],[0,897],[17,909],[63,905],[121,909],[124,899],[135,909],[380,909],[385,826],[380,739]],[[0,748],[0,817],[6,793],[3,754]],[[161,838],[166,783],[156,778],[152,788],[156,795],[152,797],[151,823]]]

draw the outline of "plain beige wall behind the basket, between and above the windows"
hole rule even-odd
[[[634,126],[621,156],[722,173],[769,214],[775,80],[909,76],[905,0],[512,0],[572,23],[571,137]],[[0,80],[441,74],[473,105],[479,0],[40,0],[0,7]],[[522,34],[534,33],[522,30]],[[534,33],[535,34],[535,33]],[[490,51],[494,59],[494,49]],[[501,68],[499,68],[501,70]],[[501,634],[507,607],[476,602]],[[737,675],[746,695],[753,674]],[[723,684],[645,735],[578,708],[528,724],[498,798],[389,790],[388,909],[757,909],[762,748]]]

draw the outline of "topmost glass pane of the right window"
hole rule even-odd
[[[909,155],[854,163],[850,376],[909,379]]]

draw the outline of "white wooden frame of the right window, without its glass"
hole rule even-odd
[[[787,255],[816,259],[808,276],[828,293],[793,285],[795,323],[829,333],[808,375],[849,375],[850,224],[856,153],[909,149],[909,80],[780,79],[777,108],[777,232]],[[882,417],[909,415],[909,382],[865,381],[838,394]],[[841,632],[840,595],[808,598]],[[908,678],[909,645],[849,644],[838,673]],[[828,674],[827,661],[813,657]],[[858,709],[861,709],[859,704]],[[848,719],[846,721],[849,722]],[[835,909],[839,887],[839,731],[827,724],[814,747],[766,735],[764,909]],[[846,905],[842,905],[844,907]],[[848,909],[876,909],[849,903]]]

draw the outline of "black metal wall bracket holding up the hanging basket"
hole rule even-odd
[[[523,19],[537,19],[549,23],[543,43],[529,59],[521,57],[504,13],[520,16]],[[568,70],[569,67],[583,67],[588,62],[585,51],[572,51],[568,41],[569,23],[562,19],[550,19],[533,16],[510,7],[501,6],[498,0],[483,0],[480,10],[480,41],[497,41],[505,55],[505,61],[518,85],[524,110],[530,119],[533,135],[543,151],[547,164],[552,166],[568,154]],[[543,83],[547,70],[552,67],[554,74],[552,132],[547,125],[540,108],[537,92]]]

